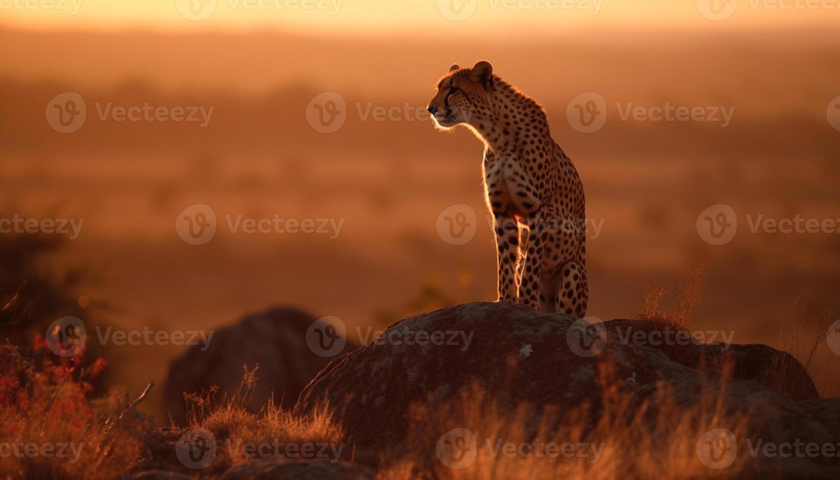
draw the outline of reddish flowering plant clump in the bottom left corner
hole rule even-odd
[[[34,355],[0,345],[0,472],[17,478],[120,477],[142,461],[144,415],[129,410],[124,390],[92,398],[93,382],[107,362],[86,362],[85,351],[56,356],[43,336]]]

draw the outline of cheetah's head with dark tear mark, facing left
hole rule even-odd
[[[489,116],[493,90],[493,66],[479,61],[472,68],[449,67],[438,82],[438,92],[428,103],[428,113],[441,129],[458,124],[476,127],[480,117]],[[475,113],[478,113],[476,115]]]

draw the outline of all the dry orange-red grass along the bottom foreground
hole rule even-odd
[[[13,375],[0,377],[5,387],[0,389],[3,438],[11,435],[22,441],[84,444],[76,463],[43,457],[0,459],[0,468],[9,477],[115,478],[143,467],[144,429],[148,425],[134,421],[114,424],[112,420],[125,409],[128,398],[114,395],[87,400],[84,381],[78,378],[60,382],[54,378],[46,384],[35,384],[45,381],[38,365],[23,359],[8,345],[3,346],[2,358],[4,371],[13,367]],[[212,465],[192,474],[218,477],[228,467],[251,460],[226,447],[228,440],[255,444],[346,442],[344,430],[333,421],[328,405],[306,417],[297,417],[273,403],[258,414],[248,413],[244,403],[256,382],[255,374],[255,370],[245,370],[239,392],[218,404],[210,403],[211,392],[187,396],[193,405],[190,428],[210,430],[220,446]],[[11,384],[9,377],[30,378],[30,383]],[[602,367],[599,378],[612,377],[611,370]],[[347,446],[341,459],[350,463],[354,455],[375,459],[365,464],[377,469],[378,480],[738,477],[748,468],[743,456],[719,472],[704,466],[696,454],[697,441],[708,430],[727,428],[738,438],[748,436],[748,415],[733,417],[725,412],[725,388],[725,380],[713,382],[703,389],[699,402],[681,407],[673,402],[668,388],[659,387],[648,401],[638,403],[620,393],[615,382],[603,380],[605,394],[597,404],[571,411],[553,407],[535,410],[520,404],[511,414],[500,408],[493,394],[476,385],[448,403],[412,409],[411,429],[404,445],[389,451],[359,452]],[[29,393],[33,396],[28,397]],[[595,410],[596,416],[591,414]],[[441,435],[456,428],[469,429],[477,440],[475,462],[462,469],[447,467],[435,453]],[[496,441],[518,445],[533,444],[534,440],[543,445],[573,444],[573,451],[586,456],[493,453]],[[580,450],[578,444],[587,446]],[[184,472],[176,461],[170,462],[158,467]]]

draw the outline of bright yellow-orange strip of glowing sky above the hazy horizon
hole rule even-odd
[[[0,0],[0,26],[20,29],[290,29],[505,33],[598,27],[828,26],[840,0]],[[434,34],[430,34],[435,41]],[[441,40],[443,41],[443,40]]]

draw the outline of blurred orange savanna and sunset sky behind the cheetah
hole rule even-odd
[[[276,304],[384,328],[407,314],[494,299],[482,146],[465,129],[436,131],[425,116],[451,64],[487,60],[543,104],[580,172],[587,218],[601,225],[587,247],[589,314],[629,318],[652,285],[679,286],[703,266],[697,330],[732,331],[734,342],[803,359],[806,336],[824,334],[840,307],[836,7],[8,0],[0,10],[0,218],[84,219],[77,238],[56,235],[62,245],[39,259],[38,272],[86,272],[73,308],[115,329],[213,330]],[[66,92],[87,112],[73,131],[54,128],[51,117]],[[606,103],[603,127],[590,133],[574,121],[574,99],[587,92]],[[207,116],[105,113],[147,104]],[[667,105],[720,120],[622,114]],[[323,112],[338,123],[319,127],[313,119]],[[711,245],[698,216],[720,203],[732,207],[738,230]],[[176,231],[194,204],[218,220],[203,245]],[[475,211],[475,236],[453,245],[438,233],[439,217],[462,204]],[[341,228],[246,234],[232,232],[226,215],[333,219]],[[759,215],[837,225],[753,233]],[[0,245],[20,235],[30,234],[2,234]],[[827,345],[818,348],[832,358]],[[113,348],[108,381],[139,392],[162,382],[184,350]],[[823,394],[840,394],[836,372],[812,374]],[[144,406],[166,423],[160,390]]]

